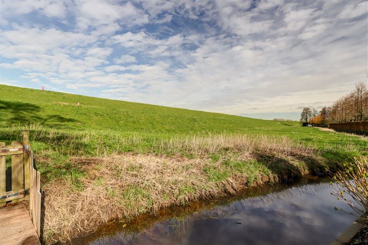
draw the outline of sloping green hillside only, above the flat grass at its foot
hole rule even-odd
[[[0,85],[0,126],[40,123],[68,130],[223,133],[281,130],[275,121]],[[77,103],[80,102],[80,106]],[[297,122],[287,125],[298,126]]]

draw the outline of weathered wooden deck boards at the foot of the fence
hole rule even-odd
[[[0,208],[0,244],[41,244],[24,204]]]

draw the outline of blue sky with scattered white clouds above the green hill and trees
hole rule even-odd
[[[367,81],[367,13],[358,0],[1,1],[0,84],[299,119]]]

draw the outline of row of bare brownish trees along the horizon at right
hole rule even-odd
[[[341,97],[331,106],[322,107],[319,112],[315,108],[304,107],[301,122],[322,127],[329,123],[368,120],[368,87],[360,82],[354,91]]]

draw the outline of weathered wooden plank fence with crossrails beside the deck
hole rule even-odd
[[[11,156],[11,176],[9,173],[7,176],[7,156]],[[38,236],[40,236],[40,173],[34,168],[28,131],[23,132],[22,141],[13,141],[8,146],[4,142],[0,142],[0,206],[23,200],[30,201],[30,217]]]

